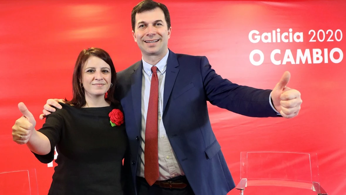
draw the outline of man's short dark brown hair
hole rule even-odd
[[[144,0],[139,2],[131,12],[131,25],[132,30],[135,31],[135,25],[136,25],[136,14],[142,13],[144,11],[151,11],[153,9],[160,8],[163,11],[163,14],[165,15],[165,20],[167,23],[167,29],[170,29],[171,27],[171,18],[170,18],[170,12],[168,11],[168,8],[162,4],[155,2],[153,0]]]

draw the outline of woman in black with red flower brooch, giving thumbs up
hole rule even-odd
[[[26,144],[43,163],[58,152],[48,195],[125,194],[122,159],[127,136],[120,103],[115,100],[116,71],[109,54],[84,49],[76,61],[73,98],[49,115],[35,130],[36,121],[24,103],[12,127],[13,141]],[[125,173],[125,174],[124,174]],[[130,174],[130,173],[129,173]]]

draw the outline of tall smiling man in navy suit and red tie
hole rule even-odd
[[[235,187],[212,132],[207,101],[249,117],[298,115],[302,100],[286,87],[285,72],[273,90],[221,78],[202,56],[168,49],[170,15],[162,3],[140,2],[131,14],[142,60],[118,73],[116,95],[125,113],[130,163],[138,195],[225,195]],[[50,105],[48,100],[42,119]]]

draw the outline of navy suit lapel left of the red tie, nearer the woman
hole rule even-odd
[[[132,103],[135,115],[135,122],[138,129],[141,129],[141,118],[142,118],[142,60],[137,62],[134,72],[131,74],[131,93],[132,93]]]

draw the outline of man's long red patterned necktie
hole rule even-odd
[[[145,124],[144,177],[153,185],[160,173],[158,170],[158,78],[157,67],[151,68],[153,75],[150,85],[147,121]]]

